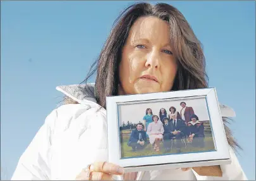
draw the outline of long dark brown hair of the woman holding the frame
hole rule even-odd
[[[178,63],[172,90],[208,87],[202,44],[182,13],[170,4],[136,3],[126,8],[115,20],[105,46],[83,82],[87,83],[87,80],[97,72],[95,92],[91,94],[95,94],[96,101],[103,108],[106,108],[106,96],[117,96],[118,66],[122,58],[122,47],[133,23],[141,16],[156,16],[169,23],[170,42]]]

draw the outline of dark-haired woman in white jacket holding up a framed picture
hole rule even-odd
[[[202,46],[182,13],[169,4],[133,4],[118,17],[89,72],[96,84],[61,86],[66,103],[54,109],[22,154],[12,180],[112,180],[123,175],[108,160],[106,96],[208,87]],[[222,116],[225,116],[222,114]],[[227,132],[231,165],[222,180],[245,180]],[[200,167],[200,170],[208,167]],[[154,170],[143,180],[212,180],[195,169]],[[234,174],[236,173],[236,174]],[[212,172],[207,172],[212,175]],[[136,173],[124,175],[135,180]]]

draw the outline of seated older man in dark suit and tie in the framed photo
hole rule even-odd
[[[178,120],[177,116],[172,114],[172,121],[171,123],[171,134],[173,134],[172,137],[175,137],[176,139],[176,148],[177,153],[181,153],[181,147],[184,146],[182,143],[183,137],[186,136],[186,124],[183,120]]]

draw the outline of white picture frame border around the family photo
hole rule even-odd
[[[199,100],[199,98],[205,99],[207,106],[210,128],[214,141],[214,151],[122,158],[119,128],[122,120],[119,119],[120,116],[118,115],[118,108],[120,105],[133,105],[134,103],[143,104],[151,103],[152,101],[154,101],[154,103],[161,103],[163,101],[173,100]],[[106,97],[106,110],[108,122],[108,161],[123,166],[125,172],[226,165],[231,163],[224,124],[222,122],[221,109],[219,108],[219,101],[217,99],[215,88],[127,96],[109,96]]]

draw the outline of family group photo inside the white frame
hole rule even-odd
[[[204,98],[118,105],[122,158],[214,151]]]

